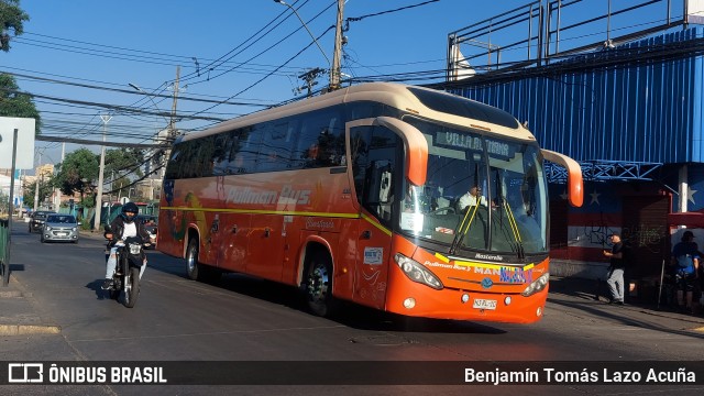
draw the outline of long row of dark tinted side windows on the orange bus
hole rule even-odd
[[[343,107],[339,106],[182,141],[172,148],[165,177],[343,166],[346,157],[342,114]]]

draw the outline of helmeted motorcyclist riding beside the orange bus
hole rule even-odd
[[[116,266],[118,264],[117,251],[118,246],[116,244],[120,240],[124,240],[129,237],[142,237],[142,241],[144,243],[150,243],[150,233],[144,229],[144,224],[136,220],[136,215],[139,213],[139,208],[134,202],[127,202],[122,206],[122,212],[118,216],[112,223],[110,224],[110,229],[106,229],[105,237],[109,240],[108,248],[110,249],[110,254],[108,256],[108,261],[106,263],[106,280],[102,283],[103,289],[109,289],[112,287],[112,275],[114,274]],[[117,237],[117,238],[116,238]],[[142,274],[146,268],[146,257],[144,258],[144,264],[140,270],[140,278],[142,278]]]

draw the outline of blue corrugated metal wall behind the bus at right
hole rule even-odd
[[[625,47],[667,45],[703,36],[702,28],[692,28]],[[703,73],[703,57],[689,56],[606,72],[516,79],[454,92],[504,109],[520,122],[528,121],[543,147],[576,161],[702,163]]]

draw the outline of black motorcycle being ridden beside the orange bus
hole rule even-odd
[[[112,275],[112,287],[109,289],[110,298],[120,299],[122,294],[122,305],[128,308],[134,307],[140,295],[140,271],[144,265],[144,245],[140,237],[129,237],[118,241],[116,272]]]

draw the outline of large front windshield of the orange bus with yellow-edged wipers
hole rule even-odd
[[[426,184],[404,186],[399,229],[450,254],[547,253],[547,186],[538,145],[405,119],[428,141]]]

